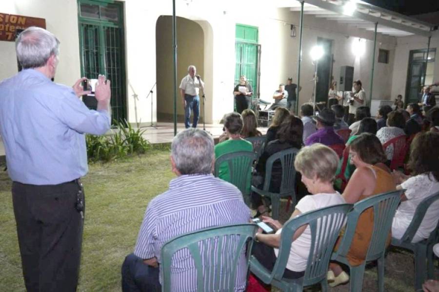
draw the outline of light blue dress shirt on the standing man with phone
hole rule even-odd
[[[9,177],[19,183],[59,184],[88,171],[84,133],[110,128],[106,110],[89,110],[71,87],[34,69],[0,83],[0,132]]]

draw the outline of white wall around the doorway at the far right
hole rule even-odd
[[[427,49],[428,38],[419,36],[398,37],[395,53],[395,64],[392,78],[392,98],[398,94],[405,97],[407,70],[411,50]],[[430,48],[436,48],[434,81],[439,81],[439,32],[434,32],[430,41]]]

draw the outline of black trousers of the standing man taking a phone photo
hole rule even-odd
[[[74,292],[78,286],[83,219],[80,181],[56,185],[14,182],[21,265],[28,292]],[[85,204],[83,192],[82,201]]]

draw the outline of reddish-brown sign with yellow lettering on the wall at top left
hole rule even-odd
[[[30,26],[45,29],[46,20],[44,18],[0,13],[0,40],[15,41],[16,31]]]

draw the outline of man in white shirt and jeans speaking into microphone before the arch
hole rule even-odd
[[[181,79],[180,93],[184,108],[184,127],[191,127],[191,111],[194,111],[194,120],[192,127],[197,128],[198,119],[200,117],[200,87],[204,92],[204,82],[200,75],[197,75],[197,68],[194,65],[189,65],[187,68],[188,74]]]

